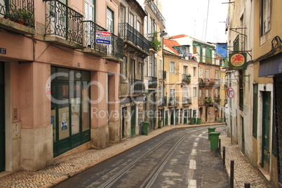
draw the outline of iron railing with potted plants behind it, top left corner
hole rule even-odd
[[[0,15],[22,25],[34,27],[34,0],[2,0]]]

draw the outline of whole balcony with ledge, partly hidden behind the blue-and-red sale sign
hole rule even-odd
[[[105,56],[107,55],[107,46],[103,46],[100,43],[96,43],[96,32],[107,31],[107,29],[101,27],[92,21],[83,21],[83,52],[94,55]]]

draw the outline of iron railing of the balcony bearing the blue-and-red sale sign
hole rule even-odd
[[[83,22],[83,34],[84,34],[84,47],[93,48],[96,51],[107,53],[107,46],[103,46],[100,43],[96,43],[96,32],[104,31],[107,32],[107,29],[101,27],[93,21],[87,20]]]

